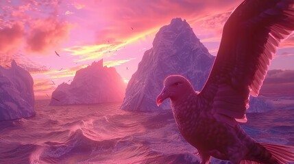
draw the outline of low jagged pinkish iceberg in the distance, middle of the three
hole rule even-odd
[[[50,105],[122,102],[126,84],[115,68],[103,67],[103,59],[77,70],[71,84],[62,83],[52,93]]]

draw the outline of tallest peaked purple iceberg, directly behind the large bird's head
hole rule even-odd
[[[145,51],[138,70],[127,84],[121,109],[171,109],[168,101],[164,101],[160,107],[156,105],[156,96],[162,89],[165,77],[182,74],[191,81],[195,90],[201,90],[214,59],[186,20],[174,18],[170,25],[160,28],[154,38],[153,47]]]

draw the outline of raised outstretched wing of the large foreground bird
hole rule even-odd
[[[243,1],[223,27],[219,52],[199,96],[212,102],[216,113],[246,122],[249,94],[258,96],[277,47],[293,30],[294,0]]]

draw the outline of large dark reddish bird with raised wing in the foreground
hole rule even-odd
[[[239,163],[294,161],[294,146],[260,143],[243,131],[249,96],[258,96],[281,40],[294,30],[293,0],[245,0],[230,14],[209,77],[200,92],[179,74],[164,79],[156,98],[171,100],[181,135],[201,164],[211,156]]]

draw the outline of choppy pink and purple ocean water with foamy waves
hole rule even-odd
[[[1,164],[199,163],[171,111],[122,111],[121,103],[48,104],[36,100],[34,117],[0,122]],[[242,126],[257,141],[294,146],[294,107],[247,118]]]

